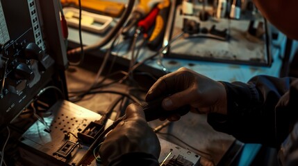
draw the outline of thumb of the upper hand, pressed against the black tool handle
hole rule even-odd
[[[190,104],[190,98],[190,89],[186,89],[185,91],[181,91],[179,93],[174,93],[163,100],[163,109],[179,109],[180,107]]]

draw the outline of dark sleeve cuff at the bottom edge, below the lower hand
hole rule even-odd
[[[108,166],[126,166],[126,165],[143,165],[143,166],[158,166],[158,160],[152,154],[142,152],[133,152],[124,154],[113,160]]]

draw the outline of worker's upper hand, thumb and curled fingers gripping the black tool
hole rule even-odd
[[[192,107],[191,111],[197,113],[226,114],[224,85],[188,68],[179,68],[178,71],[160,77],[149,89],[146,101],[165,94],[172,94],[162,102],[165,110],[170,111],[189,104]],[[179,118],[179,114],[174,114],[168,120],[175,121]]]

